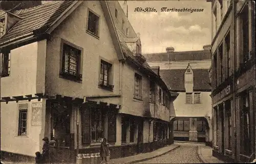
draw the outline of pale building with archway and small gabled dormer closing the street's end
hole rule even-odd
[[[169,90],[179,93],[174,101],[175,115],[170,118],[174,139],[211,145],[210,45],[203,48],[174,51],[167,47],[165,53],[144,56],[153,69],[160,67],[160,76]]]

